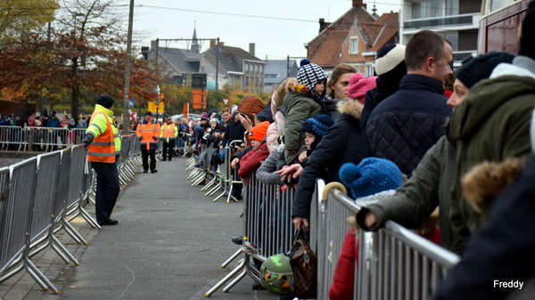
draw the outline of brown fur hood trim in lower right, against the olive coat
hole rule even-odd
[[[507,158],[502,163],[485,161],[473,166],[461,179],[466,201],[485,217],[494,199],[520,177],[524,166],[523,158]]]

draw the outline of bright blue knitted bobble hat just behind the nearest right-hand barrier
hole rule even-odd
[[[396,190],[403,184],[399,167],[384,158],[364,158],[358,166],[353,163],[344,164],[339,175],[355,199],[381,191]]]

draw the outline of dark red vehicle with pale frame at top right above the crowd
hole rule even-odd
[[[518,53],[518,28],[531,0],[483,0],[478,53]]]

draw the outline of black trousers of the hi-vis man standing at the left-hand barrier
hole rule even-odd
[[[117,164],[91,162],[96,172],[95,213],[96,222],[110,221],[111,211],[119,196],[119,174]]]

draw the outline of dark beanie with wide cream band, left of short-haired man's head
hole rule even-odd
[[[407,74],[405,46],[384,45],[375,57],[375,74],[383,81],[399,84],[401,77]]]

